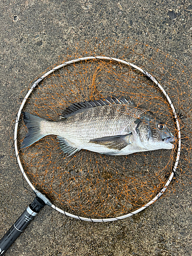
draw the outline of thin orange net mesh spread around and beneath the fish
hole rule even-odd
[[[60,57],[60,62],[86,56],[110,56],[129,61],[151,73],[162,84],[180,116],[183,143],[177,168],[180,179],[176,181],[187,177],[191,182],[191,73],[187,68],[169,55],[132,38],[84,42],[82,47],[71,47],[67,56]],[[22,92],[21,97],[25,94],[26,91]],[[115,61],[81,61],[55,71],[32,92],[24,111],[56,121],[74,102],[107,96],[130,97],[138,108],[152,111],[165,121],[177,138],[173,112],[156,84],[141,72]],[[26,133],[22,121],[19,145]],[[56,136],[47,136],[20,150],[19,155],[30,181],[56,206],[83,217],[108,218],[138,209],[160,192],[176,160],[177,140],[174,144],[173,150],[126,156],[81,150],[67,157]]]

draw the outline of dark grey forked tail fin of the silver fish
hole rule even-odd
[[[27,112],[23,112],[23,116],[24,122],[28,128],[28,134],[24,138],[21,148],[28,147],[47,135],[41,134],[40,130],[40,122],[46,119],[34,116]]]

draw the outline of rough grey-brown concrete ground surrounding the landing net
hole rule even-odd
[[[170,19],[168,11],[177,17]],[[32,201],[10,161],[10,123],[19,93],[76,41],[127,36],[159,48],[191,71],[190,0],[5,0],[0,2],[0,237]],[[191,81],[190,81],[191,83]],[[190,85],[190,84],[189,84]],[[140,214],[113,223],[67,218],[46,206],[6,255],[192,254],[191,187],[176,187]]]

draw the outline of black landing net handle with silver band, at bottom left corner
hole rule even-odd
[[[45,203],[36,197],[28,206],[12,227],[7,231],[5,236],[0,240],[0,255],[3,256],[14,241],[26,229],[29,223],[35,218],[40,209],[45,206]]]

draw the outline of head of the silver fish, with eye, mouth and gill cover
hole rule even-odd
[[[140,140],[147,150],[174,148],[174,144],[171,142],[174,142],[175,138],[169,131],[167,124],[152,115],[142,117],[137,130]]]

